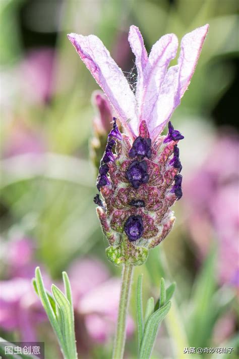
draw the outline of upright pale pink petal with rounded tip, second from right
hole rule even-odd
[[[162,36],[151,49],[144,69],[144,94],[140,120],[152,121],[152,113],[156,106],[167,67],[169,62],[176,56],[177,45],[177,37],[174,34],[167,34]],[[156,121],[156,119],[154,120]]]

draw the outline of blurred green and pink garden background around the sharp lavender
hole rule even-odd
[[[92,157],[94,150],[102,155],[100,111],[92,97],[98,87],[67,33],[100,37],[134,83],[127,41],[131,24],[139,26],[149,52],[165,33],[181,39],[209,23],[189,90],[172,116],[185,135],[180,143],[184,195],[174,206],[173,230],[135,269],[126,357],[137,353],[140,273],[145,299],[157,298],[161,276],[177,285],[154,358],[189,358],[185,347],[232,347],[231,354],[200,357],[237,357],[237,14],[236,0],[0,1],[0,336],[44,341],[46,359],[61,358],[31,288],[39,265],[48,288],[52,281],[61,287],[62,271],[70,276],[81,357],[111,355],[121,268],[107,262],[93,203]]]

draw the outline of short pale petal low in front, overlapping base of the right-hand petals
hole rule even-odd
[[[162,83],[157,105],[154,108],[151,120],[148,122],[148,128],[153,140],[162,132],[173,110],[180,104],[178,74],[178,65],[171,66]]]

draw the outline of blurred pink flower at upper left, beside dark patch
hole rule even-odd
[[[30,50],[20,66],[23,90],[33,102],[48,102],[52,94],[54,51],[42,47]]]

